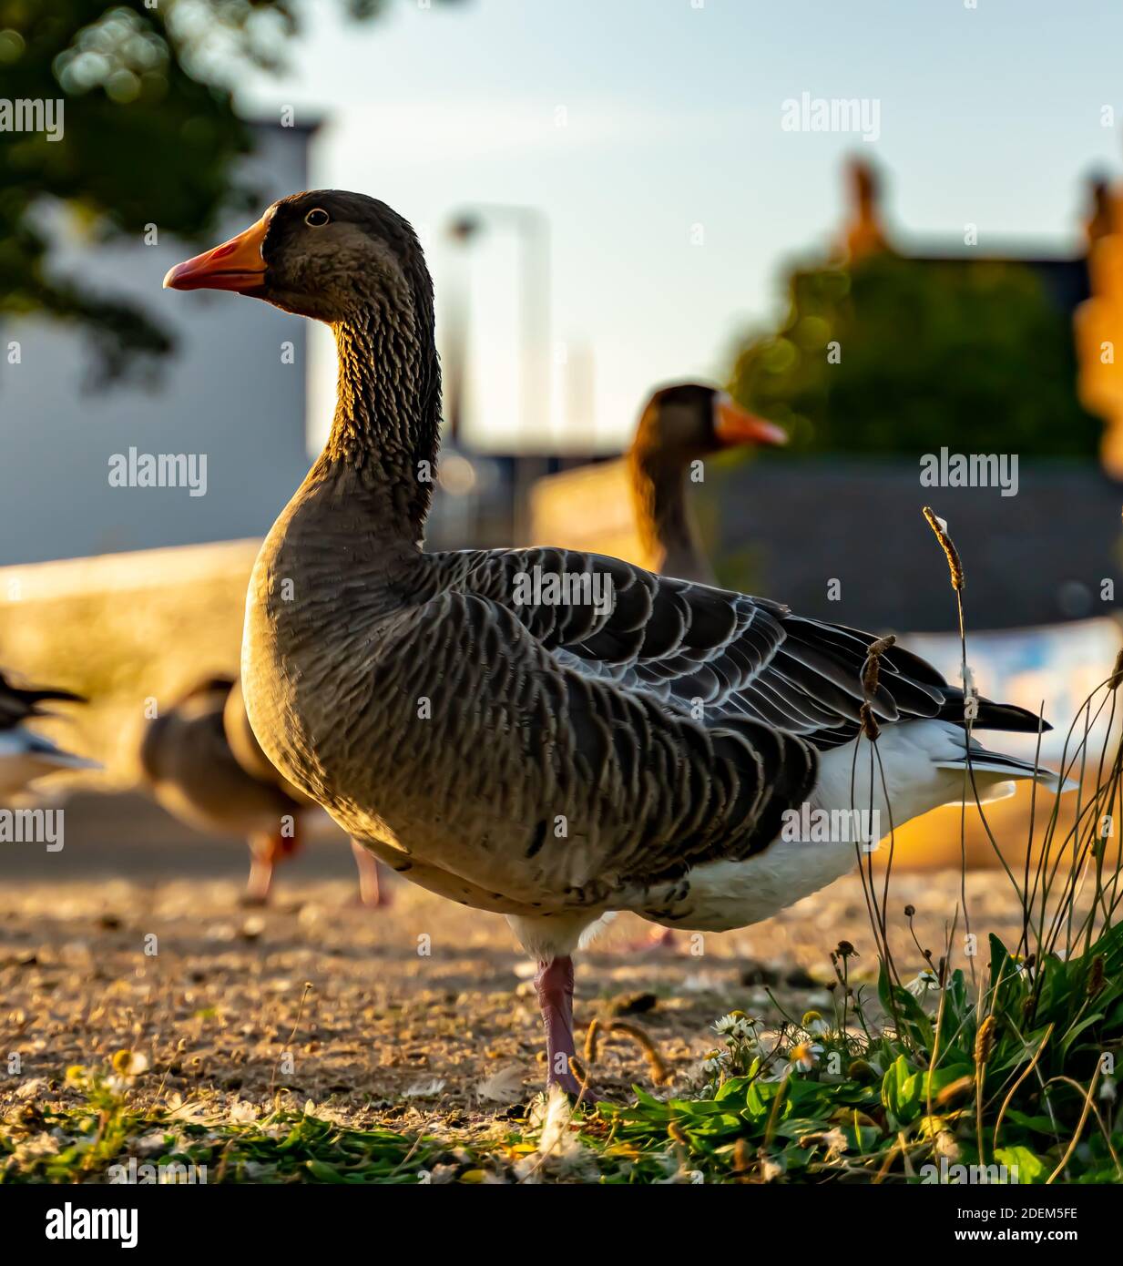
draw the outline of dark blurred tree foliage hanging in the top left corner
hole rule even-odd
[[[339,3],[367,19],[385,0]],[[251,137],[232,80],[247,63],[279,68],[300,16],[300,0],[0,0],[0,96],[61,99],[65,119],[58,139],[0,133],[0,318],[75,325],[101,379],[170,351],[137,305],[61,275],[53,234],[66,220],[99,241],[151,224],[204,238],[251,205],[234,175]]]

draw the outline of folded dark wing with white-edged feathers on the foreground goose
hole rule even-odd
[[[743,719],[817,748],[853,738],[872,633],[793,615],[780,603],[658,576],[570,549],[439,556],[446,579],[509,610],[558,663],[708,722]],[[880,657],[870,696],[882,724],[963,719],[963,696],[901,647]],[[977,728],[1037,729],[980,701]]]

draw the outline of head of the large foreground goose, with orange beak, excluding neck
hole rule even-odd
[[[332,325],[371,306],[432,308],[409,223],[365,194],[317,189],[273,203],[254,224],[170,268],[167,290],[229,290]]]

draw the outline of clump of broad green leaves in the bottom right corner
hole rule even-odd
[[[1093,970],[1098,957],[1101,963]],[[677,1137],[686,1141],[686,1162],[705,1174],[706,1181],[728,1180],[732,1158],[739,1155],[742,1161],[752,1158],[753,1175],[766,1181],[829,1181],[843,1175],[850,1181],[872,1180],[879,1174],[881,1181],[918,1181],[922,1166],[929,1166],[925,1172],[931,1174],[931,1165],[944,1160],[947,1166],[937,1172],[952,1174],[948,1181],[1043,1182],[1060,1163],[1080,1119],[1094,1053],[1123,1047],[1120,968],[1118,929],[1101,936],[1085,956],[1067,961],[1047,956],[1033,970],[991,937],[980,994],[962,971],[955,971],[942,999],[938,989],[918,986],[925,994],[923,1004],[909,989],[893,984],[882,966],[877,996],[886,1027],[871,1041],[847,1037],[842,1066],[853,1069],[855,1076],[825,1077],[819,1066],[776,1080],[780,1057],[801,1041],[798,1027],[789,1024],[771,1070],[761,1062],[753,1075],[727,1079],[708,1099],[665,1104],[638,1093],[634,1106],[601,1105],[600,1113],[612,1122],[615,1137],[625,1137],[637,1148],[639,1174],[643,1157],[652,1155],[648,1150],[667,1147],[667,1127],[674,1122]],[[1038,1005],[1034,1022],[1027,1024],[1034,986]],[[941,1003],[937,1039],[934,1013]],[[986,1018],[988,1037],[976,1051]],[[869,1020],[865,1027],[876,1031]],[[818,1041],[825,1052],[841,1046],[837,1033]],[[763,1038],[761,1044],[771,1042]],[[981,1077],[976,1056],[985,1061]],[[771,1080],[765,1080],[770,1071]],[[1109,1123],[1115,1155],[1123,1155],[1114,1105],[1101,1104],[1100,1117]],[[1103,1133],[1094,1132],[1070,1156],[1065,1175],[1085,1182],[1123,1180]]]

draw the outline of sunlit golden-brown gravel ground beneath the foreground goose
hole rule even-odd
[[[455,1124],[539,1086],[532,968],[501,918],[401,881],[387,909],[365,910],[349,851],[328,841],[285,867],[271,908],[247,912],[243,847],[173,844],[166,819],[137,813],[128,847],[104,833],[82,848],[68,836],[56,855],[5,846],[0,1113],[16,1098],[52,1098],[67,1066],[104,1065],[120,1048],[148,1056],[142,1091],[262,1104],[285,1090],[363,1124],[418,1113]],[[903,971],[922,966],[904,905],[915,905],[918,937],[938,955],[958,889],[952,871],[894,879]],[[1005,877],[971,875],[967,891],[980,942],[1009,936],[1018,912]],[[627,1015],[680,1084],[713,1044],[719,1014],[779,1018],[765,986],[796,1017],[829,1008],[839,939],[857,948],[856,972],[875,966],[856,876],[741,932],[679,933],[662,950],[647,946],[649,932],[623,917],[581,956],[576,1020],[584,1031],[594,1015]],[[610,1098],[649,1084],[642,1052],[625,1038],[604,1043],[595,1081]]]

